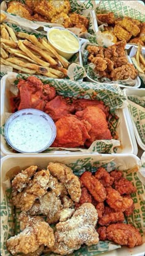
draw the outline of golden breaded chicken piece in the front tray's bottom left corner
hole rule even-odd
[[[53,229],[47,222],[37,222],[33,226],[28,226],[17,236],[12,236],[7,240],[7,249],[12,255],[17,253],[29,254],[44,245],[52,247],[55,242]]]

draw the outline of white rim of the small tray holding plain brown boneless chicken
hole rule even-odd
[[[83,60],[82,60],[82,54],[81,54],[81,50],[80,50],[80,54],[79,54],[79,60],[80,60],[80,65],[83,66]],[[131,62],[131,58],[128,56],[128,62],[132,64]],[[93,80],[92,78],[90,78],[90,76],[86,76],[85,79],[88,82],[96,82],[98,84],[97,81]],[[107,84],[107,83],[106,83]],[[109,83],[108,83],[109,84]],[[113,83],[111,83],[113,85]],[[114,82],[114,84],[116,84],[116,82]],[[139,88],[141,86],[141,79],[139,78],[139,76],[136,77],[135,79],[135,86],[125,86],[123,84],[118,84],[121,88]]]

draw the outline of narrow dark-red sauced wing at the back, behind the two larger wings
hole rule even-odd
[[[72,102],[75,111],[81,111],[87,108],[87,106],[98,106],[104,114],[106,114],[106,117],[109,116],[109,106],[104,105],[104,102],[101,100],[87,100],[85,98],[79,98],[77,100],[73,100]]]

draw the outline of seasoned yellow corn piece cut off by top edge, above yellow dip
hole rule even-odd
[[[52,0],[52,1],[40,1],[34,9],[34,12],[47,17],[50,21],[52,18],[61,12],[69,13],[70,4],[68,0]]]

